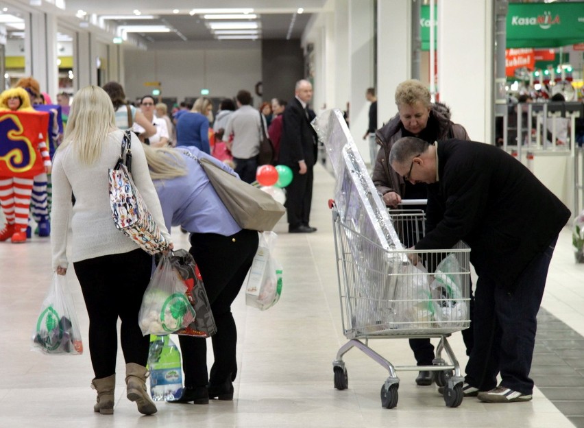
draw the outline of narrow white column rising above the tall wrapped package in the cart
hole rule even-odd
[[[374,86],[374,3],[349,3],[350,130],[359,152],[369,160],[369,141],[363,140],[369,121],[365,91]]]

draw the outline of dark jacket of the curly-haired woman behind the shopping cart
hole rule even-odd
[[[434,141],[449,138],[470,140],[465,128],[450,120],[450,109],[444,104],[433,104],[430,110],[430,118],[428,119],[428,123],[430,122],[435,123],[436,128],[435,135],[432,135],[433,141],[428,141],[430,144],[434,143]],[[394,191],[402,198],[406,197],[404,179],[396,171],[393,171],[393,168],[387,163],[393,143],[405,136],[403,135],[403,130],[400,115],[398,114],[376,132],[376,140],[380,148],[377,153],[372,180],[377,191],[382,195]]]

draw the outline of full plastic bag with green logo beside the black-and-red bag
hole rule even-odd
[[[144,335],[167,335],[193,322],[195,309],[186,298],[186,285],[169,255],[160,257],[146,288],[138,323]]]

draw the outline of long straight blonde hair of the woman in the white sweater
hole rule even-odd
[[[108,134],[117,129],[112,100],[99,86],[86,86],[75,94],[65,128],[64,145],[73,145],[77,158],[91,165],[101,155]]]

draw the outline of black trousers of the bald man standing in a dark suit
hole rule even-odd
[[[293,178],[286,188],[286,209],[290,228],[308,226],[313,201],[313,167],[308,167],[306,174],[299,174],[298,167],[291,168]]]

